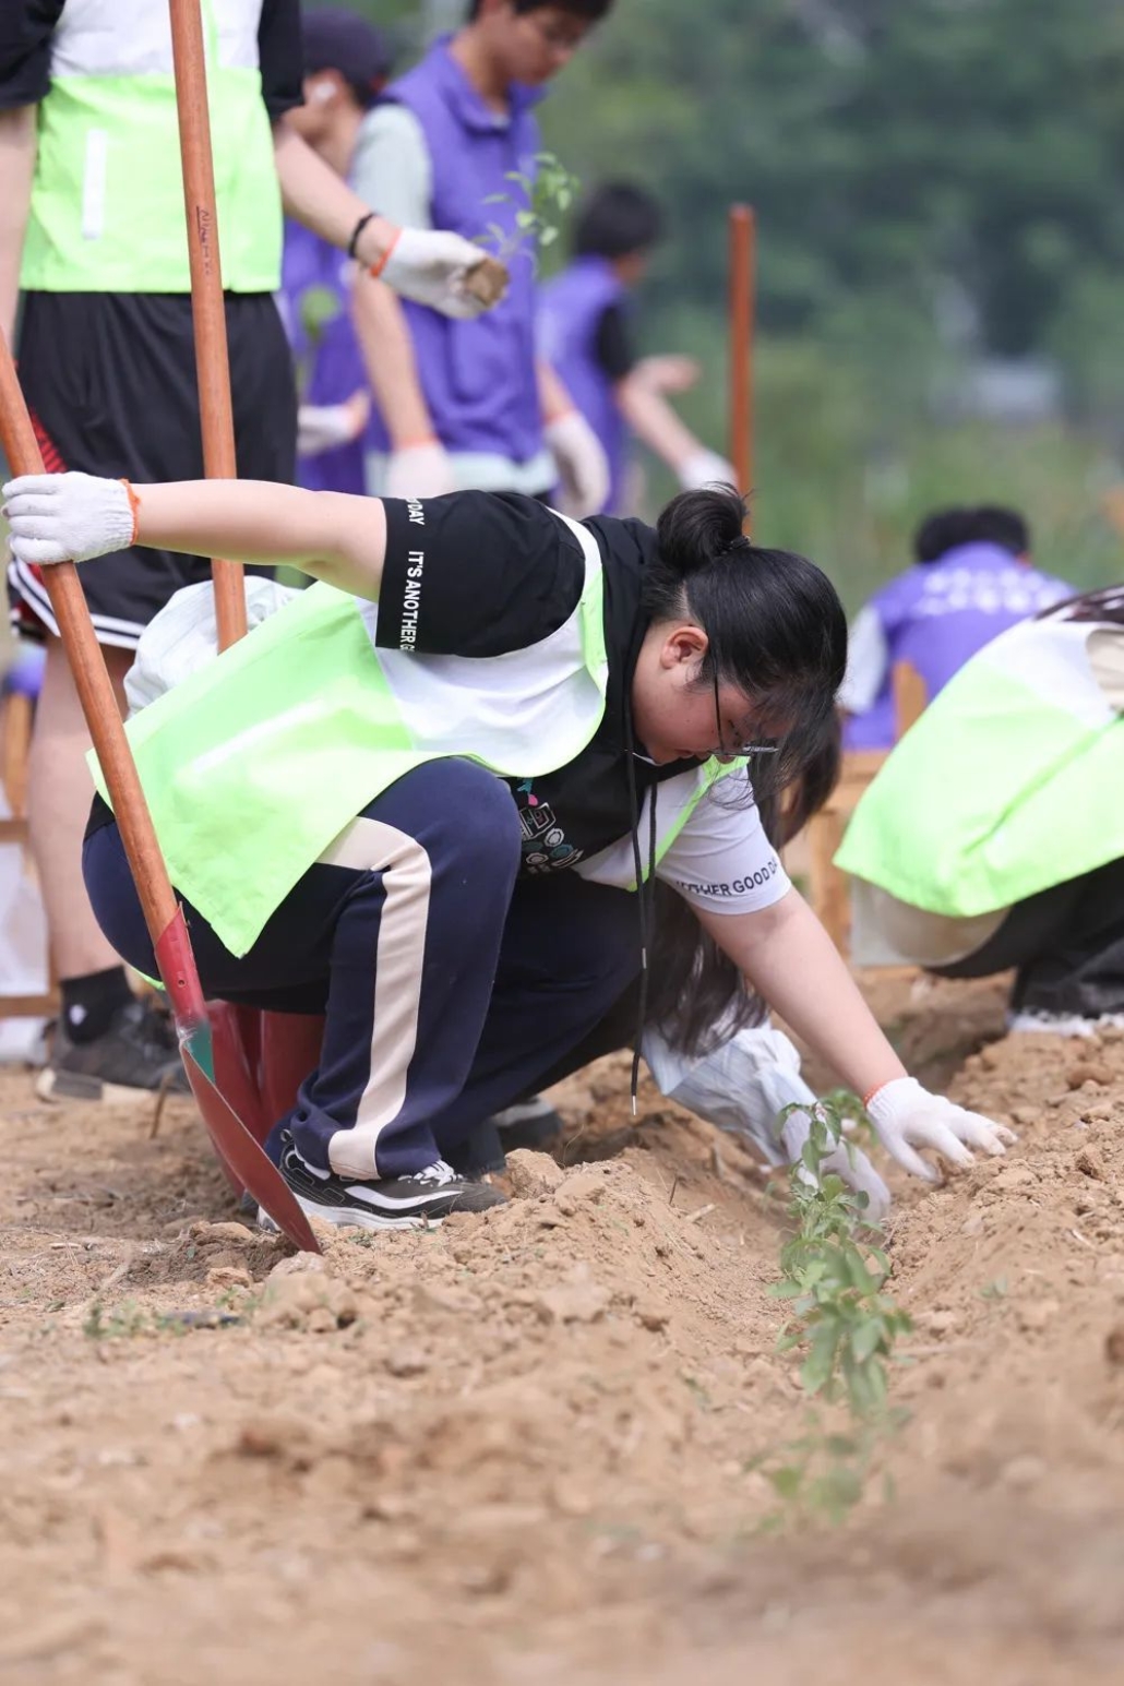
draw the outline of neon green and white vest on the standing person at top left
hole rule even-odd
[[[281,196],[258,69],[260,0],[204,0],[222,285],[275,292]],[[20,270],[42,292],[187,293],[165,0],[66,0]]]

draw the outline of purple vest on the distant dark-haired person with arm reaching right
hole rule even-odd
[[[539,351],[565,381],[608,457],[610,489],[602,514],[618,514],[627,428],[613,383],[597,359],[597,332],[610,305],[627,297],[605,258],[576,258],[539,292]]]

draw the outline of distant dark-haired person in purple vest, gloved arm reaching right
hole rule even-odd
[[[691,357],[637,359],[632,347],[630,293],[661,233],[661,209],[650,194],[607,182],[578,216],[573,263],[539,292],[539,352],[608,457],[608,514],[629,513],[630,433],[667,464],[684,491],[736,479],[664,396],[693,386],[698,364]]]

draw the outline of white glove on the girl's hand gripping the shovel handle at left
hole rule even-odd
[[[20,474],[3,487],[12,555],[24,563],[89,561],[133,543],[126,481],[94,474]]]

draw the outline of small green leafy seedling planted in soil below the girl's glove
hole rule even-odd
[[[785,1108],[779,1123],[799,1109]],[[866,1195],[824,1170],[844,1141],[844,1116],[853,1116],[849,1098],[829,1096],[811,1109],[789,1187],[795,1232],[780,1249],[782,1280],[770,1293],[789,1302],[779,1350],[804,1352],[804,1391],[844,1406],[849,1426],[827,1428],[821,1413],[809,1411],[804,1435],[784,1448],[782,1462],[757,1463],[789,1512],[831,1522],[858,1504],[881,1445],[905,1421],[907,1413],[890,1406],[886,1369],[895,1340],[913,1327],[885,1291],[890,1261],[864,1216]],[[780,1521],[784,1512],[768,1519]]]

